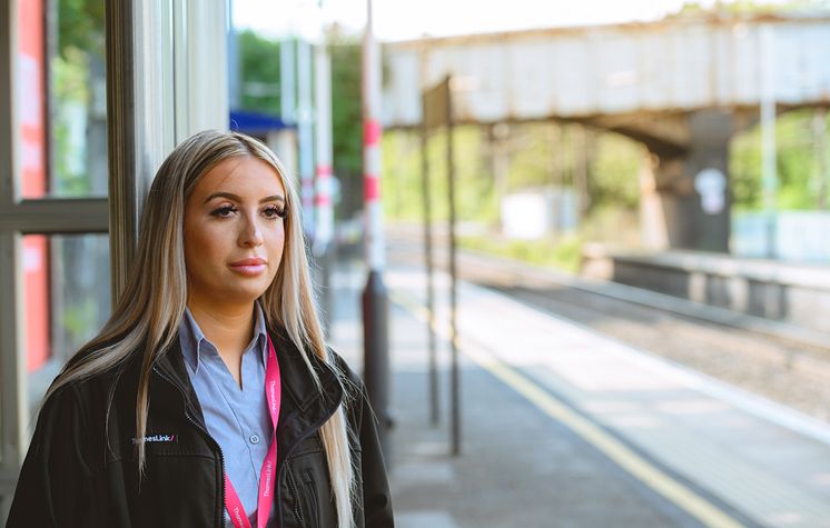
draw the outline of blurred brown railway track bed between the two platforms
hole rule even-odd
[[[392,261],[422,265],[421,247],[412,237],[391,237],[388,256]],[[446,251],[437,251],[436,266],[446,268]],[[564,273],[470,251],[458,251],[458,273],[463,280],[830,422],[830,348],[798,339],[792,328],[782,337],[758,321],[737,328],[703,320],[650,306],[651,292],[635,301],[615,298],[580,288],[579,279]]]

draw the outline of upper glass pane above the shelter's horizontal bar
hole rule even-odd
[[[20,195],[106,196],[103,0],[18,6]]]

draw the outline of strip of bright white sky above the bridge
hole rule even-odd
[[[294,28],[314,33],[319,21],[336,21],[360,33],[366,0],[233,0],[237,28],[279,37]],[[727,0],[727,3],[729,0]],[[373,0],[375,33],[382,41],[411,40],[562,26],[656,20],[684,0]],[[712,6],[714,0],[699,0]]]

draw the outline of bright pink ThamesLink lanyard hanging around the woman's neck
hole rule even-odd
[[[265,396],[268,398],[268,412],[270,412],[271,440],[268,455],[263,460],[263,469],[259,471],[259,500],[257,501],[257,528],[265,528],[270,517],[270,508],[274,504],[271,489],[274,489],[274,470],[277,467],[277,420],[279,419],[279,363],[274,343],[268,337],[268,363],[265,368]],[[239,496],[236,495],[234,485],[230,484],[228,475],[225,474],[225,508],[228,510],[230,520],[236,528],[250,528],[248,515],[245,512]]]

